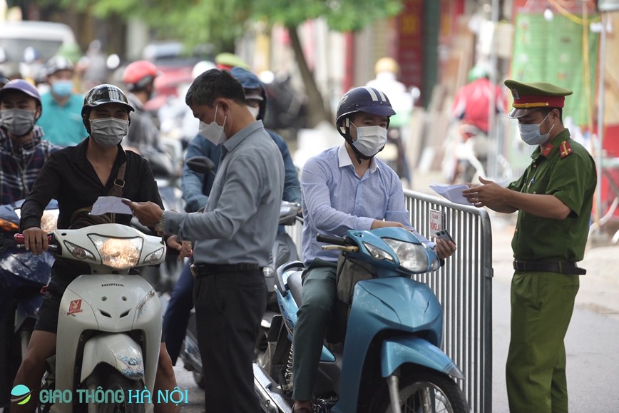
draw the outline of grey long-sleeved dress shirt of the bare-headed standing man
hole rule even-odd
[[[196,263],[267,265],[283,188],[280,151],[255,121],[223,143],[205,212],[165,211],[165,233],[195,241]]]

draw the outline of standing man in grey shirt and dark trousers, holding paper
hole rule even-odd
[[[176,234],[168,245],[195,241],[193,301],[207,411],[255,413],[260,406],[253,347],[266,307],[261,267],[275,242],[284,164],[227,71],[211,69],[195,78],[185,103],[200,120],[200,134],[222,145],[205,212],[164,213],[154,203],[127,204],[143,225]]]

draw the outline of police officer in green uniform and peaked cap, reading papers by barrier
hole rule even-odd
[[[505,81],[510,118],[523,141],[538,146],[532,163],[502,188],[479,178],[463,195],[473,205],[518,211],[511,246],[511,341],[506,364],[511,413],[568,412],[563,339],[572,317],[587,243],[595,163],[563,127],[568,89],[550,83]]]

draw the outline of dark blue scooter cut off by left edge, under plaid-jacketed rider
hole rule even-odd
[[[13,379],[43,300],[41,287],[47,285],[54,261],[51,253],[33,255],[16,247],[13,235],[19,233],[22,203],[0,205],[0,410],[11,402]],[[41,228],[51,232],[57,220],[58,203],[52,200]]]

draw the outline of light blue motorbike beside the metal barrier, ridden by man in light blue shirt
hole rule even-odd
[[[318,235],[317,240],[332,244],[323,249],[342,250],[340,264],[358,262],[373,269],[373,276],[354,284],[351,305],[337,307],[347,334],[343,345],[329,343],[327,334],[314,412],[469,413],[454,380],[464,375],[439,348],[441,304],[427,285],[410,277],[437,270],[436,253],[403,228],[349,230],[344,238]],[[270,363],[254,364],[255,391],[265,412],[291,412],[292,335],[302,270],[302,262],[277,270],[281,314],[269,331]]]

